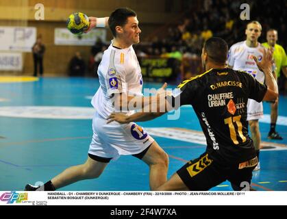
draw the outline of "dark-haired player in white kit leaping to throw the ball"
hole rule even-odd
[[[130,101],[140,100],[140,104],[133,104],[133,107],[139,109],[144,106],[143,103],[151,103],[151,97],[142,96],[140,65],[132,47],[140,42],[141,31],[136,12],[129,8],[118,8],[112,12],[110,18],[90,17],[88,31],[93,27],[104,27],[107,21],[114,40],[103,53],[98,68],[100,87],[92,98],[96,112],[92,120],[93,136],[88,159],[85,164],[67,168],[40,187],[27,184],[25,190],[51,191],[76,181],[97,178],[111,159],[117,159],[121,155],[134,155],[149,165],[151,190],[155,190],[166,181],[169,157],[145,129],[136,123],[107,124],[108,116],[115,109],[132,114],[127,107]],[[165,87],[166,84],[160,92]]]

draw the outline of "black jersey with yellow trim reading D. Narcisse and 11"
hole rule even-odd
[[[247,100],[261,102],[267,90],[264,84],[238,70],[212,68],[177,88],[180,94],[174,97],[180,105],[192,105],[212,159],[238,163],[255,157],[248,135]]]

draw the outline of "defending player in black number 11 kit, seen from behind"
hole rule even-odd
[[[272,53],[264,51],[258,67],[265,83],[245,72],[226,68],[228,46],[221,38],[210,38],[203,46],[201,60],[205,73],[177,86],[166,96],[166,112],[171,105],[192,105],[206,138],[207,148],[192,159],[157,190],[210,190],[230,181],[234,190],[250,190],[252,170],[258,164],[253,142],[248,135],[247,100],[274,101],[277,83],[272,75]],[[179,103],[179,104],[175,104]],[[174,108],[173,108],[174,109]],[[139,112],[130,116],[111,114],[108,123],[151,120],[165,112]]]

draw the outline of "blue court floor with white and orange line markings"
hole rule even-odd
[[[145,83],[145,88],[160,86]],[[98,87],[98,79],[92,78],[0,80],[0,190],[23,190],[26,183],[46,182],[65,168],[86,161],[94,112],[90,99]],[[280,96],[277,131],[284,140],[268,140],[270,106],[264,103],[261,170],[253,172],[256,190],[287,191],[286,109],[287,97]],[[192,107],[182,107],[178,120],[167,120],[167,116],[139,125],[169,154],[171,177],[186,161],[203,153],[205,138]],[[111,162],[99,179],[60,190],[149,190],[149,169],[135,157],[122,156]],[[232,188],[225,182],[212,190]]]

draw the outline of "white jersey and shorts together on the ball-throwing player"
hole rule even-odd
[[[133,47],[110,47],[103,53],[98,68],[100,87],[92,98],[95,115],[92,119],[90,155],[117,159],[120,155],[136,155],[145,151],[153,142],[147,131],[136,123],[107,124],[115,111],[112,94],[125,92],[129,96],[142,96],[142,74]],[[128,112],[132,114],[132,112]]]

